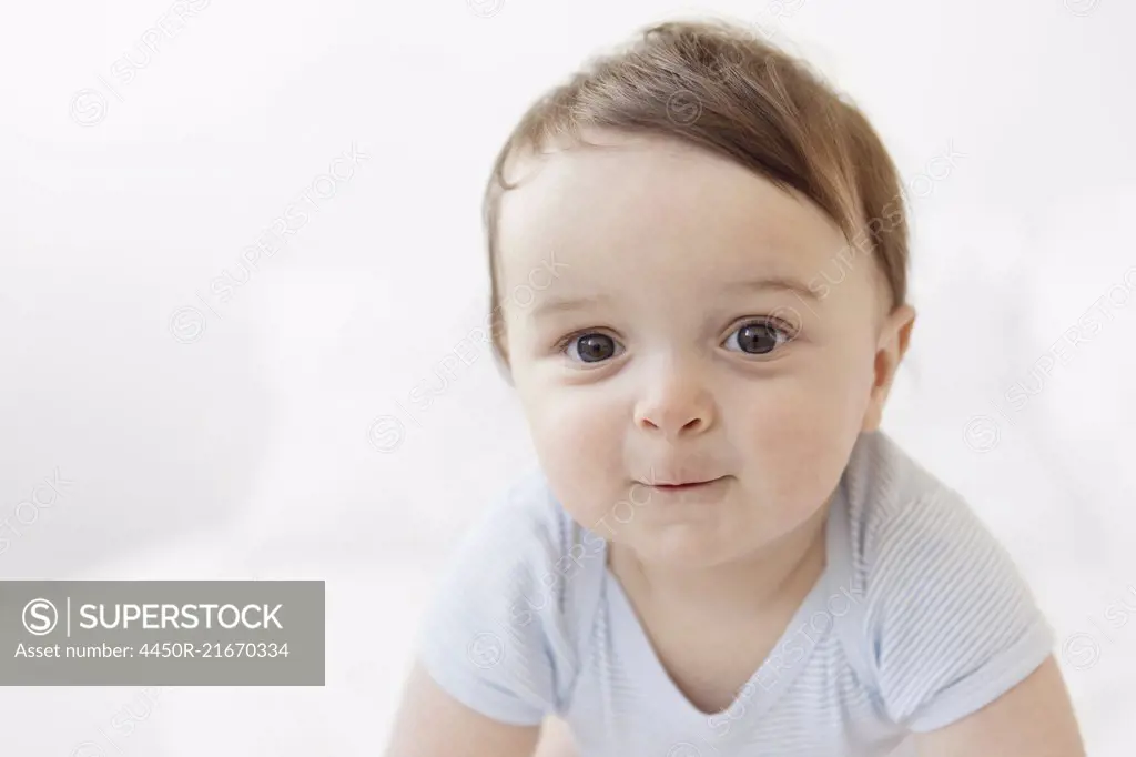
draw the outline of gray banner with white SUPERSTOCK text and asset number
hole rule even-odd
[[[324,685],[323,581],[0,581],[0,685]]]

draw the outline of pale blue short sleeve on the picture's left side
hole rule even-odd
[[[510,496],[460,538],[427,604],[417,656],[444,691],[510,725],[557,710],[571,664],[557,622],[557,534],[538,502]]]

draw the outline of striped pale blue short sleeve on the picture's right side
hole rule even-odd
[[[867,624],[882,704],[914,732],[991,704],[1055,643],[1008,551],[946,488],[880,526]]]

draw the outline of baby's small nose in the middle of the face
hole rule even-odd
[[[669,365],[654,374],[635,406],[635,425],[670,440],[696,436],[713,425],[713,398],[696,372]]]

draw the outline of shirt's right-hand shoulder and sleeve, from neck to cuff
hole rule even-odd
[[[844,481],[857,641],[888,715],[911,730],[993,701],[1051,654],[1052,630],[1009,551],[966,499],[880,432]]]

